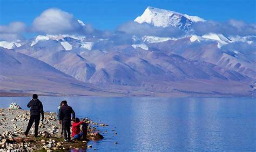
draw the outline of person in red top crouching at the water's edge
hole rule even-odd
[[[80,125],[82,125],[82,131],[80,129]],[[73,121],[73,125],[72,125],[72,134],[71,134],[72,139],[79,140],[83,136],[83,139],[85,140],[86,135],[87,135],[87,124],[84,121],[80,121],[78,118],[76,118]]]

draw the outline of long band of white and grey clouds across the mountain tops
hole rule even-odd
[[[185,15],[187,16],[187,15]],[[256,35],[256,24],[248,24],[239,20],[228,20],[223,23],[218,21],[197,21],[191,24],[186,33],[178,27],[153,26],[148,23],[139,24],[136,21],[127,21],[110,33],[109,31],[96,30],[90,24],[84,24],[72,14],[57,8],[45,10],[36,17],[31,25],[25,25],[21,21],[14,21],[9,25],[0,26],[0,39],[4,41],[17,41],[24,39],[25,33],[38,34],[77,34],[95,35],[102,38],[111,38],[117,34],[128,34],[141,37],[152,35],[156,37],[180,38],[186,34],[204,35],[207,33],[222,33],[224,35]],[[126,35],[126,36],[128,36]],[[116,36],[114,36],[116,37]]]

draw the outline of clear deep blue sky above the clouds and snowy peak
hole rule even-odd
[[[0,0],[0,25],[22,21],[31,25],[44,10],[59,8],[100,30],[114,30],[118,25],[142,15],[147,6],[199,16],[206,20],[243,20],[256,23],[256,1],[3,1]]]

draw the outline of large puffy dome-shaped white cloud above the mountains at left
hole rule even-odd
[[[46,34],[70,34],[82,30],[83,26],[68,12],[60,9],[45,10],[32,23],[32,31]]]

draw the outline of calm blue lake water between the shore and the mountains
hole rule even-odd
[[[0,107],[30,97],[1,97]],[[255,151],[255,98],[39,97],[45,111],[68,100],[77,117],[105,124],[105,139],[89,142],[104,151]],[[114,135],[115,129],[117,135]],[[113,136],[114,135],[114,136]],[[118,144],[114,144],[114,142]],[[91,151],[92,149],[88,149]]]

